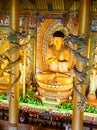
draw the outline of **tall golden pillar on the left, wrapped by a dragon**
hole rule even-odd
[[[19,32],[19,0],[10,1],[10,29]],[[18,41],[16,41],[18,44]],[[13,44],[10,43],[10,47]],[[19,50],[14,50],[10,53],[10,60],[15,61],[19,57]],[[13,84],[19,75],[19,64],[11,68],[13,73],[10,77],[10,84]],[[19,82],[16,82],[10,92],[13,97],[9,99],[9,130],[17,130],[18,115],[19,115]]]

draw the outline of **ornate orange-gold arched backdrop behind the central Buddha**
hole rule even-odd
[[[74,35],[77,34],[77,29],[74,27],[74,24],[73,22],[71,22],[71,19],[68,22],[67,27],[63,26],[61,20],[46,19],[41,23],[38,31],[38,40],[37,40],[37,64],[39,70],[41,71],[44,71],[46,69],[45,66],[46,49],[48,43],[51,44],[52,42],[51,36],[56,30],[64,32],[65,35],[68,35],[69,33]],[[73,60],[73,57],[71,59]]]

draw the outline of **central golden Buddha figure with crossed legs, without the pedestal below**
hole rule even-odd
[[[36,80],[50,85],[70,85],[73,82],[72,54],[64,44],[64,34],[53,34],[53,45],[48,45],[46,53],[47,69],[36,74]]]

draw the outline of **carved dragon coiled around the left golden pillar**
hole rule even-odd
[[[20,45],[19,43],[17,43],[18,40],[20,39],[24,39],[27,37],[27,34],[25,32],[15,32],[13,29],[10,29],[10,34],[6,35],[6,37],[4,37],[3,39],[8,39],[10,41],[10,44],[12,44],[10,46],[10,48],[6,49],[5,52],[3,54],[0,55],[0,64],[4,63],[4,60],[7,60],[9,63],[5,68],[0,68],[2,70],[2,72],[6,72],[9,74],[13,74],[12,72],[10,72],[11,68],[14,67],[15,65],[19,64],[22,60],[22,57],[19,56],[15,61],[11,61],[9,59],[9,57],[7,56],[7,54],[12,54],[15,53],[17,51],[20,51],[21,49],[23,49],[25,46],[27,46],[27,44],[30,43],[30,40],[32,40],[32,38],[34,39],[34,37],[31,37],[30,40],[25,43],[24,45]],[[14,74],[13,74],[14,75]],[[16,77],[15,81],[9,85],[8,88],[8,98],[14,98],[14,93],[11,92],[12,87],[14,87],[14,84],[16,84],[21,76],[21,72],[19,72],[18,77]]]

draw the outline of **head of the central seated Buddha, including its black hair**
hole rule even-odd
[[[54,45],[57,50],[61,48],[64,44],[64,33],[61,31],[56,31],[53,33]]]

